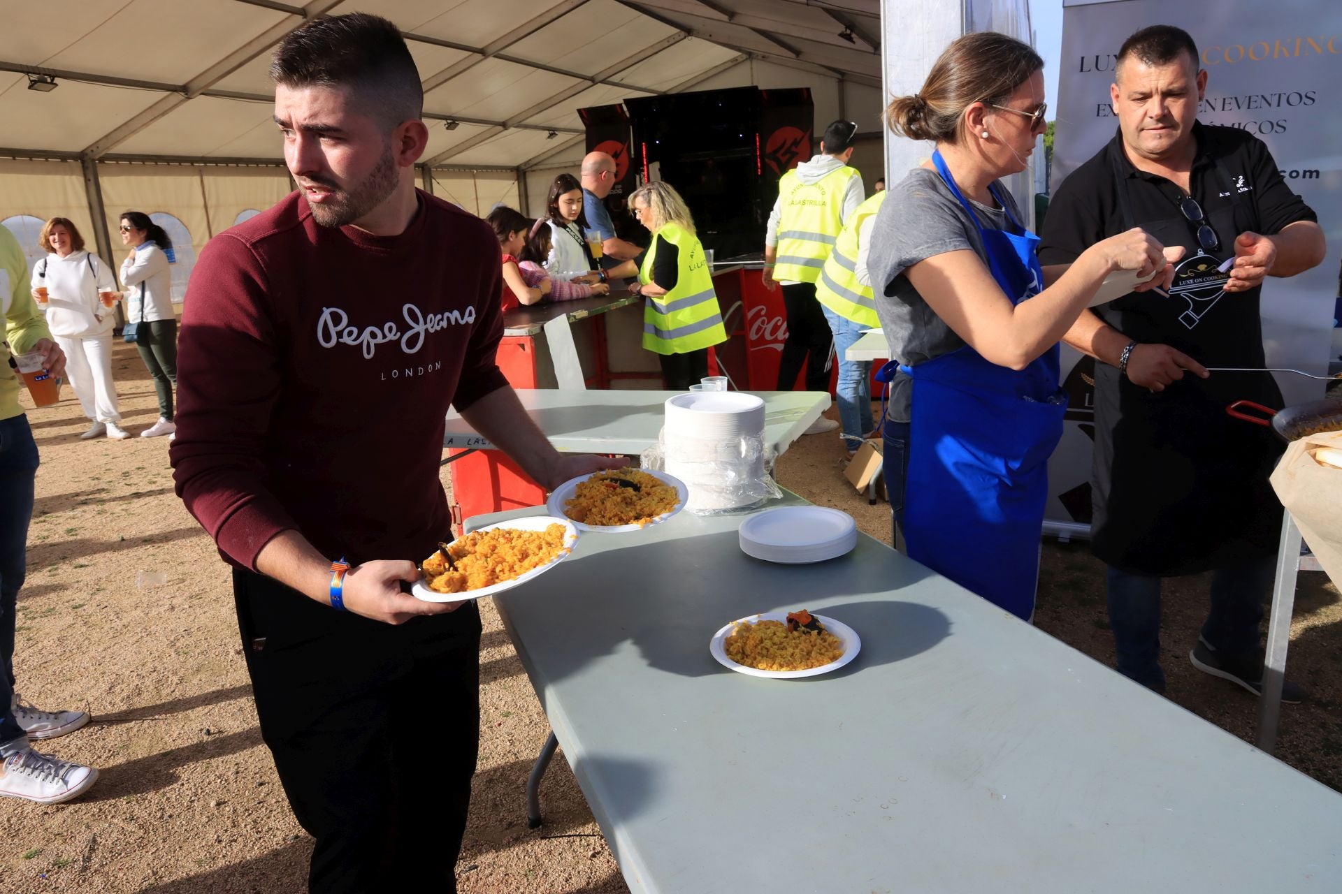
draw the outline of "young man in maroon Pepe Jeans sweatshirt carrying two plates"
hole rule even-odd
[[[317,839],[310,889],[455,891],[480,621],[401,591],[448,536],[448,405],[544,485],[612,461],[556,453],[494,365],[498,240],[415,189],[428,131],[396,25],[306,24],[271,76],[299,190],[201,252],[177,493],[234,568],[262,735]]]

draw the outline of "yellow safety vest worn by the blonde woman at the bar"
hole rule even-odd
[[[688,354],[726,342],[727,332],[722,328],[722,312],[703,245],[684,227],[666,224],[654,235],[652,248],[639,269],[639,281],[644,285],[652,281],[658,236],[679,249],[679,265],[675,288],[666,295],[643,298],[643,347],[656,354]]]

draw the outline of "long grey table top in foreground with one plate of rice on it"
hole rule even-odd
[[[864,535],[777,566],[741,520],[585,533],[495,598],[633,891],[1342,890],[1342,795]],[[710,657],[801,607],[851,665]]]

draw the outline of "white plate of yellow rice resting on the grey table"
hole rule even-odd
[[[709,653],[723,667],[770,680],[828,674],[856,658],[860,649],[852,627],[805,609],[733,621],[709,642]]]

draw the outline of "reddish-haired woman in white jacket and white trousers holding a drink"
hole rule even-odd
[[[66,375],[89,417],[89,440],[106,434],[122,440],[117,386],[111,381],[111,327],[117,280],[105,260],[86,252],[83,236],[64,217],[52,217],[38,237],[47,252],[32,271],[32,294],[47,290],[47,328],[66,353]],[[109,298],[105,304],[101,295]],[[43,307],[43,304],[39,304]]]

